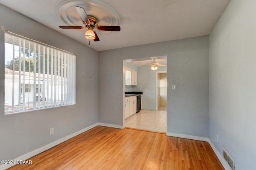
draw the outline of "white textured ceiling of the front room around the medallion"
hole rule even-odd
[[[66,25],[57,13],[58,4],[65,1],[70,0],[0,0],[0,4],[103,51],[208,35],[230,0],[100,0],[116,11],[121,31],[100,34],[100,41],[90,41],[90,45],[85,29],[58,27]]]

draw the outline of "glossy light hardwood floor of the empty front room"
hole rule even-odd
[[[218,170],[209,143],[135,129],[97,126],[12,170]]]

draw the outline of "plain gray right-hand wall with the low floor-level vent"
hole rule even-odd
[[[255,169],[256,1],[231,0],[209,37],[209,133],[236,170]],[[219,142],[216,135],[219,135]]]

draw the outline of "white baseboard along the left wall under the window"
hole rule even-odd
[[[48,150],[48,149],[50,149],[50,148],[52,148],[52,147],[54,147],[54,146],[56,146],[56,145],[58,145],[60,143],[62,143],[64,141],[67,141],[68,139],[70,139],[72,137],[75,137],[75,136],[77,136],[77,135],[79,135],[79,134],[81,134],[81,133],[83,133],[85,131],[88,131],[88,130],[96,127],[96,126],[98,126],[98,123],[90,125],[89,127],[86,127],[86,128],[84,128],[84,129],[82,129],[80,131],[77,131],[75,133],[72,133],[71,135],[68,135],[68,136],[63,137],[61,139],[58,139],[57,141],[54,141],[52,143],[49,143],[48,145],[45,145],[45,146],[40,147],[40,148],[38,148],[36,150],[33,150],[32,152],[28,152],[28,153],[26,153],[26,154],[24,154],[22,156],[19,156],[18,158],[14,159],[14,163],[16,164],[16,160],[27,160],[28,158],[31,158],[32,156],[35,156],[35,155],[37,155],[37,154],[39,154],[41,152],[44,152],[45,150]],[[7,168],[10,168],[10,167],[14,166],[15,164],[3,164],[3,165],[0,166],[0,170],[6,170]]]

